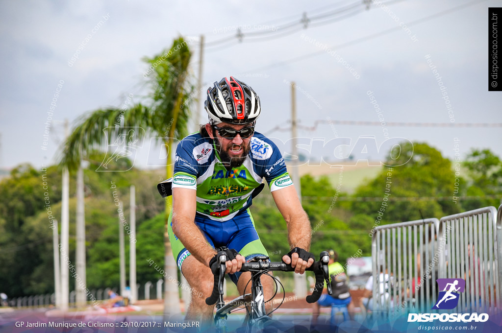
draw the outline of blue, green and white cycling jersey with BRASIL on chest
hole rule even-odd
[[[197,191],[197,214],[227,221],[252,204],[252,192],[263,181],[270,191],[293,185],[286,163],[272,140],[255,132],[248,158],[238,168],[227,170],[213,140],[195,133],[176,148],[172,188]]]

